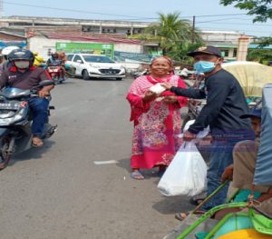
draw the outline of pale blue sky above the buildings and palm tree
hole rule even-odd
[[[1,0],[0,0],[1,1]],[[67,17],[92,20],[151,22],[158,13],[180,12],[200,30],[238,31],[245,35],[272,36],[272,21],[253,24],[253,16],[219,0],[3,0],[3,15]]]

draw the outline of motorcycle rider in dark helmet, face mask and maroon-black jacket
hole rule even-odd
[[[0,76],[0,88],[15,87],[22,90],[34,90],[39,88],[39,83],[44,80],[52,80],[44,68],[36,67],[34,55],[31,51],[25,49],[16,49],[12,51],[8,58],[11,67]],[[33,112],[33,145],[42,146],[44,144],[41,135],[44,131],[44,124],[48,118],[49,100],[46,98],[50,94],[54,85],[44,86],[39,90],[39,97],[32,97],[28,104]]]

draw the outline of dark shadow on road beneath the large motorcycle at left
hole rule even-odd
[[[43,158],[43,154],[45,154],[50,148],[55,144],[52,140],[45,140],[44,146],[42,147],[32,147],[31,149],[20,153],[15,154],[12,156],[11,162],[9,166],[16,164],[17,161],[24,161],[24,160],[36,160]]]

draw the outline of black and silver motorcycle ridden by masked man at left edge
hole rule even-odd
[[[39,89],[52,84],[51,80],[43,81]],[[28,99],[37,97],[39,89],[22,90],[8,87],[0,91],[0,170],[7,166],[13,154],[22,153],[33,147],[31,132],[33,120]],[[54,107],[48,107],[48,115],[50,109]],[[52,136],[56,127],[57,125],[51,125],[47,120],[42,139]]]

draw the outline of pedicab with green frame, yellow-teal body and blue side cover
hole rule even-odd
[[[253,184],[272,186],[272,147],[270,145],[272,138],[272,84],[265,85],[263,88],[261,127],[260,146],[257,154]],[[220,188],[223,186],[224,184]],[[214,194],[216,193],[214,192]],[[212,196],[213,194],[209,195],[205,201],[207,202]],[[272,214],[262,212],[257,207],[257,204],[258,202],[254,197],[250,196],[248,197],[248,202],[222,204],[210,209],[206,214],[201,216],[191,213],[165,238],[272,238]],[[220,221],[210,218],[213,214],[219,212],[219,210],[234,207],[247,208],[248,210],[226,214]]]

